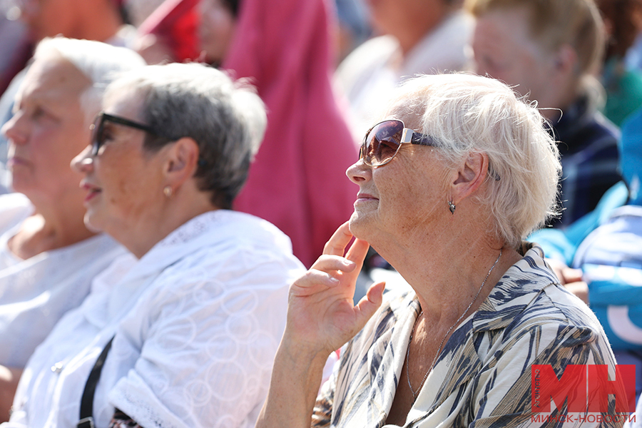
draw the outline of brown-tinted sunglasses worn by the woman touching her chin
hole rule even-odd
[[[402,144],[437,146],[433,138],[406,128],[402,121],[389,119],[370,128],[363,138],[359,158],[368,166],[383,166],[399,153]],[[499,175],[488,165],[489,175],[499,181]]]

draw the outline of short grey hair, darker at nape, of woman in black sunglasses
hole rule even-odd
[[[196,141],[199,189],[212,193],[216,207],[231,208],[267,124],[253,87],[202,64],[171,63],[126,73],[108,87],[106,97],[118,91],[140,94],[139,117],[157,134],[146,137],[148,151],[183,137]]]

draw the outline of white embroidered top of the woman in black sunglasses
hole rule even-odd
[[[193,218],[140,260],[120,258],[96,277],[36,350],[0,427],[74,427],[88,374],[114,334],[96,427],[115,408],[146,428],[253,427],[287,289],[304,271],[265,220],[228,210]]]

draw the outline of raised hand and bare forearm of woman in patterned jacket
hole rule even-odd
[[[310,427],[328,355],[352,339],[381,305],[384,282],[372,285],[356,306],[352,303],[370,245],[356,239],[343,257],[351,239],[344,223],[323,255],[290,287],[287,325],[257,428]]]

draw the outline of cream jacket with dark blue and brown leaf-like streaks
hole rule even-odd
[[[596,317],[559,285],[541,248],[523,247],[524,258],[444,345],[404,427],[591,426],[566,405],[551,404],[557,419],[531,413],[531,365],[551,365],[559,378],[569,364],[606,364],[612,378],[615,360]],[[384,426],[419,310],[412,291],[384,302],[322,387],[313,427]]]

